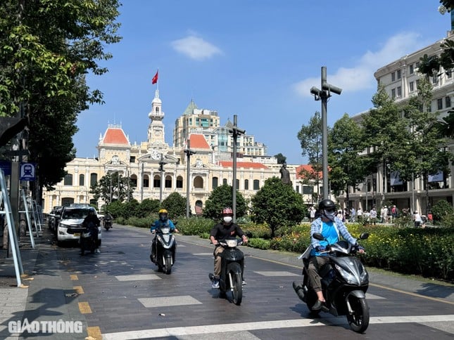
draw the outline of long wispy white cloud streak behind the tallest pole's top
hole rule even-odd
[[[374,72],[380,67],[397,60],[408,53],[421,48],[421,41],[415,33],[401,33],[391,37],[383,48],[377,52],[367,51],[358,60],[358,65],[341,67],[334,74],[328,74],[330,84],[334,84],[343,91],[355,92],[364,89],[375,89],[377,81]],[[320,77],[311,77],[294,84],[294,90],[299,96],[309,97],[312,86],[320,87]]]

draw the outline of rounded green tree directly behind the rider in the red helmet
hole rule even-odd
[[[211,218],[215,221],[222,218],[222,209],[232,207],[233,196],[232,185],[223,184],[215,188],[205,202],[203,217]],[[246,215],[247,206],[241,192],[237,191],[237,218]]]

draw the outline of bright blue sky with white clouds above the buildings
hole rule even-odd
[[[121,124],[130,142],[146,140],[159,70],[165,140],[191,99],[305,164],[297,136],[320,101],[320,70],[343,89],[327,105],[328,125],[372,107],[374,72],[446,37],[450,15],[438,0],[123,0],[120,43],[106,46],[102,76],[89,76],[104,105],[81,112],[77,157],[94,157],[100,133]]]

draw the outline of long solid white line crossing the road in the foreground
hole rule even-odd
[[[421,323],[454,322],[454,315],[415,315],[415,316],[377,316],[370,318],[370,324],[387,323]],[[142,329],[129,332],[103,334],[104,340],[151,339],[165,336],[182,336],[194,334],[219,334],[231,332],[232,329],[252,331],[257,329],[281,329],[294,327],[313,327],[326,325],[346,325],[346,318],[270,320],[260,322],[244,322],[234,324],[173,327],[160,329]]]

